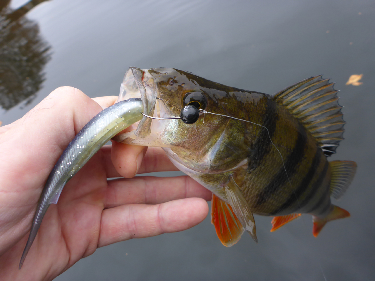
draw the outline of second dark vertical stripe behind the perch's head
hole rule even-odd
[[[276,176],[274,176],[270,183],[257,195],[258,198],[253,207],[254,209],[272,197],[279,187],[288,182],[288,177],[292,178],[294,172],[296,172],[297,166],[305,153],[305,147],[307,144],[306,131],[302,124],[299,124],[297,132],[298,137],[294,144],[294,148],[289,154],[287,160],[284,161],[285,169],[284,167],[281,167]],[[285,170],[287,171],[285,172]]]

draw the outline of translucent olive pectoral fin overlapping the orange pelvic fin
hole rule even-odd
[[[229,204],[233,208],[234,214],[236,214],[243,228],[250,234],[251,238],[258,243],[253,213],[251,212],[248,202],[232,176],[229,182],[225,185],[225,194],[228,198]]]

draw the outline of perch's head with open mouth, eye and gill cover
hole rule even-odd
[[[237,109],[238,102],[231,96],[231,91],[234,88],[186,71],[130,67],[121,84],[119,100],[140,97],[144,113],[153,117],[180,117],[186,105],[228,114],[229,109]],[[228,123],[233,121],[203,112],[193,124],[186,124],[181,119],[154,120],[144,116],[133,125],[136,128],[114,139],[128,144],[162,147],[174,163],[177,161],[203,173],[219,173],[246,161],[243,123],[236,122],[240,124],[239,130],[233,131],[237,125],[228,130]]]

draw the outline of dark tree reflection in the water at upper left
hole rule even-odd
[[[6,110],[35,97],[45,80],[43,67],[51,58],[36,22],[26,13],[46,0],[31,0],[20,8],[0,0],[0,106]]]

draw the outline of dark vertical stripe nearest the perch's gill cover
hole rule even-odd
[[[248,159],[249,159],[249,170],[255,170],[262,162],[265,155],[270,152],[270,149],[273,147],[271,139],[273,134],[276,131],[276,124],[279,120],[279,115],[276,110],[276,103],[266,98],[266,110],[264,111],[263,122],[261,123],[261,132],[256,139],[254,145],[252,145]]]

